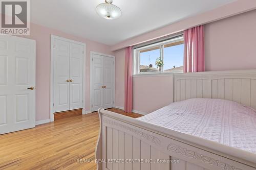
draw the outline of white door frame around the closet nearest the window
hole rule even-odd
[[[116,57],[108,54],[103,54],[103,53],[98,53],[91,51],[90,52],[90,111],[92,112],[92,93],[93,93],[93,68],[92,68],[92,59],[93,59],[93,54],[100,55],[100,56],[105,56],[105,57],[111,57],[114,58],[114,90],[113,90],[113,96],[114,96],[114,106],[116,103],[115,99],[115,92],[116,92]]]

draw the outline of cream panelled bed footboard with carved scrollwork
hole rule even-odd
[[[238,153],[242,154],[241,157],[231,156],[198,144],[205,143],[201,138],[183,136],[179,132],[104,109],[98,112],[98,169],[256,170],[255,162],[252,161],[255,157],[244,159],[254,154],[241,152]],[[199,142],[195,143],[195,140]],[[206,144],[224,150],[218,143],[217,146],[214,146],[216,143]],[[240,151],[230,147],[227,149],[229,152]]]

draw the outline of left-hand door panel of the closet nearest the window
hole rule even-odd
[[[103,57],[100,55],[93,55],[92,61],[92,111],[97,111],[103,108]]]

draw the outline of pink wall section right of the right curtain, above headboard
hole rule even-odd
[[[205,26],[205,69],[256,68],[256,10]]]

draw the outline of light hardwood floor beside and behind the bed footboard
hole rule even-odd
[[[79,163],[77,159],[94,159],[98,131],[98,113],[94,112],[0,135],[0,169],[96,169],[95,163]]]

